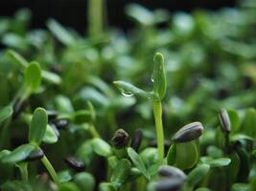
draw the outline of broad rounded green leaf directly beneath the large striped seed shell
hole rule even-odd
[[[194,141],[176,144],[176,166],[182,170],[195,166],[198,162],[198,149]]]

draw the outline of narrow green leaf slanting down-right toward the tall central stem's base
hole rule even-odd
[[[151,176],[143,163],[143,160],[141,157],[132,149],[131,147],[128,147],[128,157],[131,159],[131,161],[134,163],[134,165],[140,170],[140,172],[148,179],[151,179]]]

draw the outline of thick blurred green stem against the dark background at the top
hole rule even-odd
[[[103,32],[104,0],[88,1],[88,19],[90,35],[99,34]]]

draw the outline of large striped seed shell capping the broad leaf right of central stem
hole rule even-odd
[[[175,142],[188,142],[202,135],[203,127],[200,122],[192,122],[179,129],[173,138]]]

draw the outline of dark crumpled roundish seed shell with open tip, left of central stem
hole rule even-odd
[[[128,138],[128,133],[124,129],[118,129],[111,142],[115,148],[121,149],[128,145]]]

